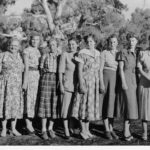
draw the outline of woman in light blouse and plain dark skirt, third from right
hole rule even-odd
[[[110,140],[113,138],[118,139],[113,130],[118,69],[118,62],[116,60],[118,54],[117,45],[117,37],[116,35],[112,35],[108,39],[108,50],[104,50],[101,53],[100,90],[104,92],[102,118],[104,120],[105,136]]]

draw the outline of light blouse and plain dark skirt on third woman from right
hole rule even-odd
[[[102,117],[114,117],[115,99],[116,99],[116,83],[118,62],[116,60],[118,51],[104,50],[101,53],[101,65],[103,66],[103,78],[106,92],[103,96]]]

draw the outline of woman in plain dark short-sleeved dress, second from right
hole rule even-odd
[[[138,40],[134,35],[130,35],[128,40],[129,48],[120,52],[118,61],[123,90],[123,103],[125,106],[124,139],[126,141],[131,141],[133,136],[130,132],[130,123],[131,120],[138,119],[138,105],[136,96],[136,45]]]

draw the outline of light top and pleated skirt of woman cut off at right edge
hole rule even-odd
[[[139,62],[144,72],[150,76],[150,51],[140,52]],[[139,118],[150,121],[150,80],[140,77],[139,83]]]

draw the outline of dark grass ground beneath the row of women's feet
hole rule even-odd
[[[36,122],[37,123],[37,122]],[[141,140],[142,126],[140,121],[135,121],[132,123],[131,132],[134,136],[133,141],[126,142],[123,140],[123,121],[115,120],[114,128],[116,133],[119,135],[119,140],[107,140],[103,135],[103,124],[102,122],[91,123],[90,129],[91,132],[95,135],[93,139],[82,140],[79,136],[79,129],[76,129],[76,134],[71,137],[71,139],[66,140],[63,138],[64,132],[60,122],[57,122],[56,125],[59,126],[56,128],[57,137],[55,139],[49,139],[47,141],[40,138],[40,132],[37,129],[36,135],[25,135],[25,130],[20,130],[22,132],[21,137],[14,137],[8,135],[6,138],[0,138],[0,145],[150,145],[150,134],[148,141]],[[149,124],[150,125],[150,124]],[[20,124],[18,123],[18,126]],[[36,126],[36,124],[35,124]],[[150,132],[150,130],[148,130]]]

